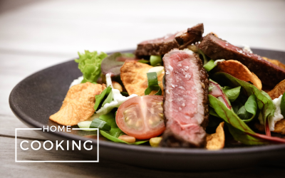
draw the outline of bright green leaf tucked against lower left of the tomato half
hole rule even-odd
[[[105,115],[100,115],[99,118],[100,120],[108,122],[111,126],[110,132],[105,132],[103,130],[100,130],[101,135],[108,138],[108,140],[111,140],[113,142],[122,142],[122,143],[133,144],[133,145],[139,145],[144,142],[148,142],[148,140],[144,140],[144,141],[139,141],[139,142],[134,142],[134,143],[128,143],[128,142],[118,139],[120,135],[125,135],[125,133],[122,130],[120,130],[120,128],[116,124],[115,114],[113,112],[109,112],[108,114],[105,114]]]

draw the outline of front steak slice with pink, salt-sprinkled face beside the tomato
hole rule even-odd
[[[204,147],[209,110],[209,80],[199,56],[174,49],[163,57],[166,129],[162,147]]]

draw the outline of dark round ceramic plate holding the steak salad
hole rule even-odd
[[[253,49],[254,53],[285,63],[285,52]],[[133,51],[123,51],[133,52]],[[22,80],[11,91],[11,110],[28,127],[57,125],[48,117],[61,108],[71,82],[81,76],[74,61],[46,68]],[[49,140],[90,140],[84,131],[41,132]],[[93,147],[97,140],[93,141]],[[218,151],[204,149],[153,148],[100,140],[100,157],[155,169],[209,170],[229,169],[285,158],[285,145],[228,147]],[[88,152],[95,156],[96,152]]]

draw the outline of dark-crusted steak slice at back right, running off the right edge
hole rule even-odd
[[[285,79],[285,70],[279,66],[265,61],[261,56],[233,46],[232,44],[217,38],[212,33],[207,34],[199,44],[199,48],[204,54],[210,58],[225,59],[225,60],[237,60],[247,66],[262,83],[273,88],[281,80]]]

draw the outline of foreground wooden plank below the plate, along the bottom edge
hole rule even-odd
[[[105,159],[100,159],[99,163],[16,163],[14,141],[9,137],[0,137],[1,177],[284,177],[282,164],[279,167],[258,166],[214,172],[165,172],[133,167]],[[21,141],[19,139],[18,143]],[[29,152],[18,150],[17,156],[21,160],[90,158],[68,151],[46,151],[42,149]]]

